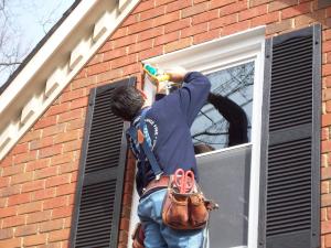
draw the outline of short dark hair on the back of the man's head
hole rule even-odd
[[[114,115],[131,121],[143,106],[141,93],[132,86],[120,86],[113,91],[111,111]]]

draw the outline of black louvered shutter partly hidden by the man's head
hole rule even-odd
[[[116,248],[126,168],[127,123],[110,110],[111,91],[124,79],[90,90],[72,224],[72,248]]]

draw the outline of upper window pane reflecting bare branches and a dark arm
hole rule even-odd
[[[249,142],[254,62],[221,69],[207,77],[212,83],[209,103],[191,128],[196,153]]]

